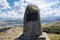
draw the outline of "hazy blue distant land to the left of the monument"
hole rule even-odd
[[[0,27],[21,27],[23,26],[23,20],[21,19],[6,19],[6,20],[0,20]]]

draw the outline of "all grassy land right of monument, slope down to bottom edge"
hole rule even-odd
[[[60,21],[44,24],[42,30],[47,32],[51,40],[60,40]]]

